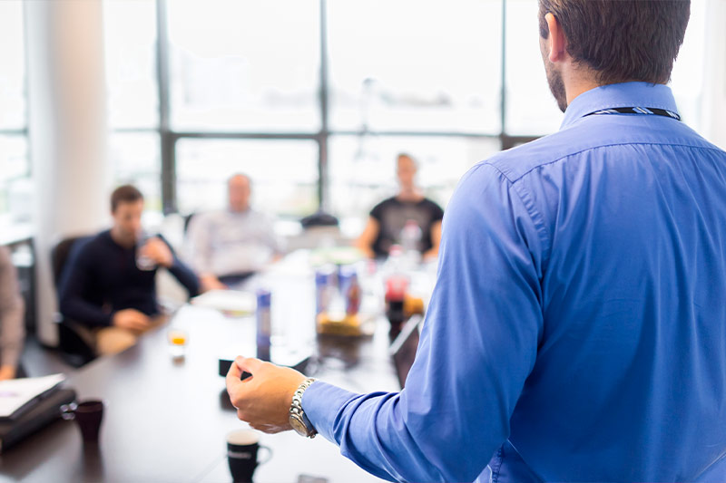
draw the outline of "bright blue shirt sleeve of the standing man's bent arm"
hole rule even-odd
[[[478,165],[446,208],[437,284],[399,393],[305,391],[313,426],[380,478],[472,481],[509,435],[543,316],[542,243],[494,167]]]

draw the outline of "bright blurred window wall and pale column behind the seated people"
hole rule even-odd
[[[683,121],[721,147],[724,5],[692,1],[672,74]],[[536,14],[536,0],[0,2],[0,242],[32,241],[41,339],[50,246],[107,224],[122,183],[162,222],[222,208],[244,172],[282,235],[323,209],[355,237],[406,151],[446,207],[466,169],[562,121]]]

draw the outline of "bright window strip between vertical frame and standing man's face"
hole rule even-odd
[[[512,135],[550,134],[563,114],[547,86],[536,0],[506,2],[506,126]]]

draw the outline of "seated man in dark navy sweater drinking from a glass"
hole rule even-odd
[[[142,239],[142,193],[130,186],[111,196],[113,227],[73,247],[60,283],[64,317],[89,328],[96,351],[119,353],[139,334],[160,322],[155,275],[166,268],[186,287],[199,292],[197,276],[174,255],[162,237]]]

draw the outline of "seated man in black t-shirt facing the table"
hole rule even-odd
[[[388,256],[393,245],[406,247],[415,243],[424,259],[437,257],[444,210],[418,190],[416,171],[413,158],[398,155],[398,194],[381,201],[370,211],[368,224],[356,241],[356,246],[367,256]]]

